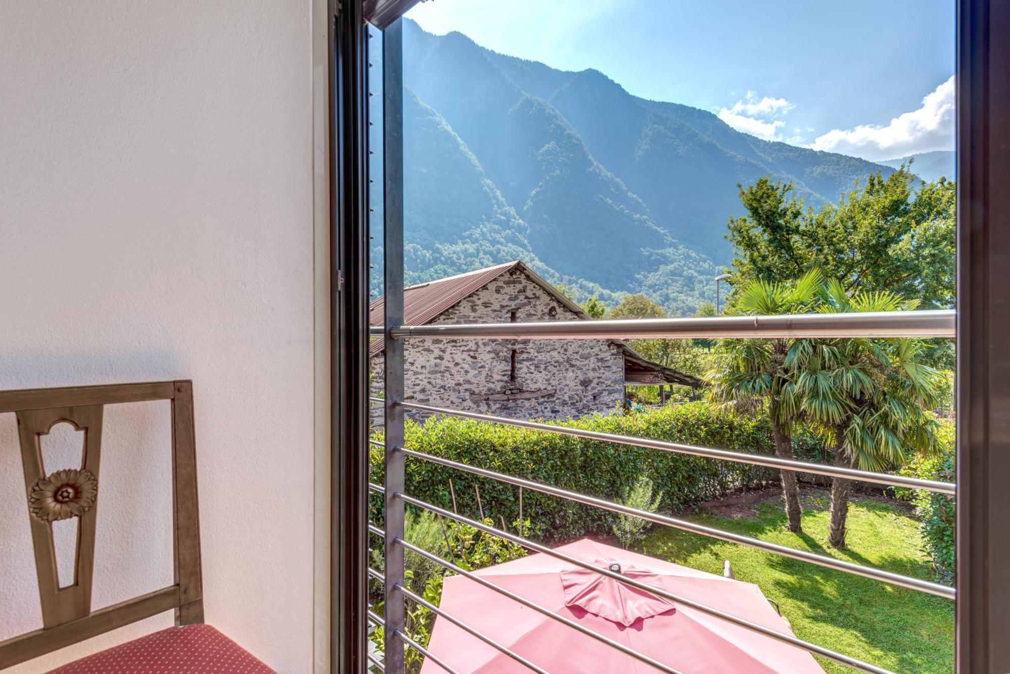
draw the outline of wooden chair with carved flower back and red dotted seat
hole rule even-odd
[[[91,609],[102,411],[119,403],[172,403],[172,489],[175,582],[120,603]],[[0,391],[0,413],[17,415],[28,521],[34,547],[40,630],[0,642],[0,669],[36,658],[167,610],[176,627],[64,665],[54,674],[115,672],[273,672],[248,652],[203,623],[200,521],[197,508],[193,382],[158,381]],[[84,431],[79,469],[46,474],[40,436],[60,422]],[[102,501],[103,509],[114,502]],[[74,583],[60,586],[53,522],[79,518]],[[146,667],[146,669],[144,669]]]

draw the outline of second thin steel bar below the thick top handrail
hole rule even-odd
[[[561,498],[567,498],[569,500],[574,500],[576,502],[584,503],[586,505],[593,505],[594,508],[600,508],[603,510],[610,511],[612,513],[622,513],[624,515],[630,515],[632,517],[641,518],[642,520],[647,520],[648,522],[654,522],[659,525],[664,525],[666,527],[672,527],[674,529],[680,529],[683,531],[691,532],[693,534],[700,534],[702,536],[707,536],[709,538],[719,539],[721,541],[728,541],[729,543],[736,543],[738,545],[745,545],[751,548],[758,548],[759,550],[764,550],[765,552],[775,553],[777,555],[782,555],[784,557],[791,557],[792,559],[798,559],[803,562],[808,562],[810,564],[816,564],[818,566],[823,566],[825,568],[834,569],[835,571],[842,571],[844,573],[851,573],[853,575],[863,576],[865,578],[871,578],[873,580],[879,580],[891,585],[898,585],[899,587],[905,587],[908,589],[918,590],[920,592],[926,592],[928,594],[935,594],[936,596],[942,596],[947,599],[954,598],[956,591],[954,588],[947,585],[941,585],[940,583],[934,583],[929,580],[922,580],[920,578],[913,578],[911,576],[904,576],[900,573],[892,573],[891,571],[884,571],[883,569],[877,569],[872,566],[863,566],[861,564],[853,564],[851,562],[846,562],[840,559],[835,559],[834,557],[827,557],[825,555],[816,555],[812,552],[806,552],[804,550],[796,550],[795,548],[788,548],[784,545],[778,545],[775,543],[768,543],[760,539],[750,538],[748,536],[740,536],[739,534],[733,534],[721,529],[713,529],[712,527],[706,527],[704,525],[699,525],[688,520],[680,520],[678,518],[671,518],[666,515],[659,515],[658,513],[649,513],[648,511],[640,511],[635,508],[630,508],[622,503],[615,503],[610,500],[604,500],[603,498],[596,498],[594,496],[587,496],[577,491],[569,491],[568,489],[562,489],[561,487],[551,486],[549,484],[543,484],[542,482],[533,482],[531,480],[522,479],[521,477],[513,477],[512,475],[507,475],[505,473],[496,472],[494,470],[487,470],[486,468],[478,468],[466,463],[460,463],[459,461],[452,461],[451,459],[443,459],[439,456],[433,456],[431,454],[423,454],[421,452],[415,452],[410,449],[401,450],[407,456],[413,456],[415,458],[423,459],[425,461],[430,461],[432,463],[437,463],[449,468],[456,468],[457,470],[463,470],[475,475],[481,475],[483,477],[489,477],[491,479],[499,480],[501,482],[506,482],[508,484],[514,484],[516,486],[521,486],[525,489],[532,489],[533,491],[540,491],[541,493],[548,493],[552,496],[559,496]]]

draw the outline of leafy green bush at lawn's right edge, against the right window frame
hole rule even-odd
[[[954,424],[952,420],[939,420],[939,455],[917,456],[905,468],[902,475],[953,482],[955,479]],[[938,580],[950,581],[954,574],[954,522],[956,509],[953,496],[924,489],[895,489],[899,497],[911,500],[915,512],[921,518],[920,531],[923,545]]]

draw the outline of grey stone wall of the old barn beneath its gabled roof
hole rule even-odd
[[[520,269],[464,299],[432,324],[578,321]],[[515,379],[512,379],[512,351]],[[404,384],[411,403],[515,419],[567,419],[611,412],[621,402],[624,355],[602,340],[409,339]],[[382,396],[385,359],[372,359],[372,395]],[[382,408],[373,406],[382,425]],[[417,415],[412,415],[418,418]]]

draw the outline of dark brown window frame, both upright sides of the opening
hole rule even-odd
[[[413,0],[369,0],[379,27]],[[367,33],[332,0],[331,670],[366,667]],[[1010,2],[957,0],[956,671],[1010,671]]]

